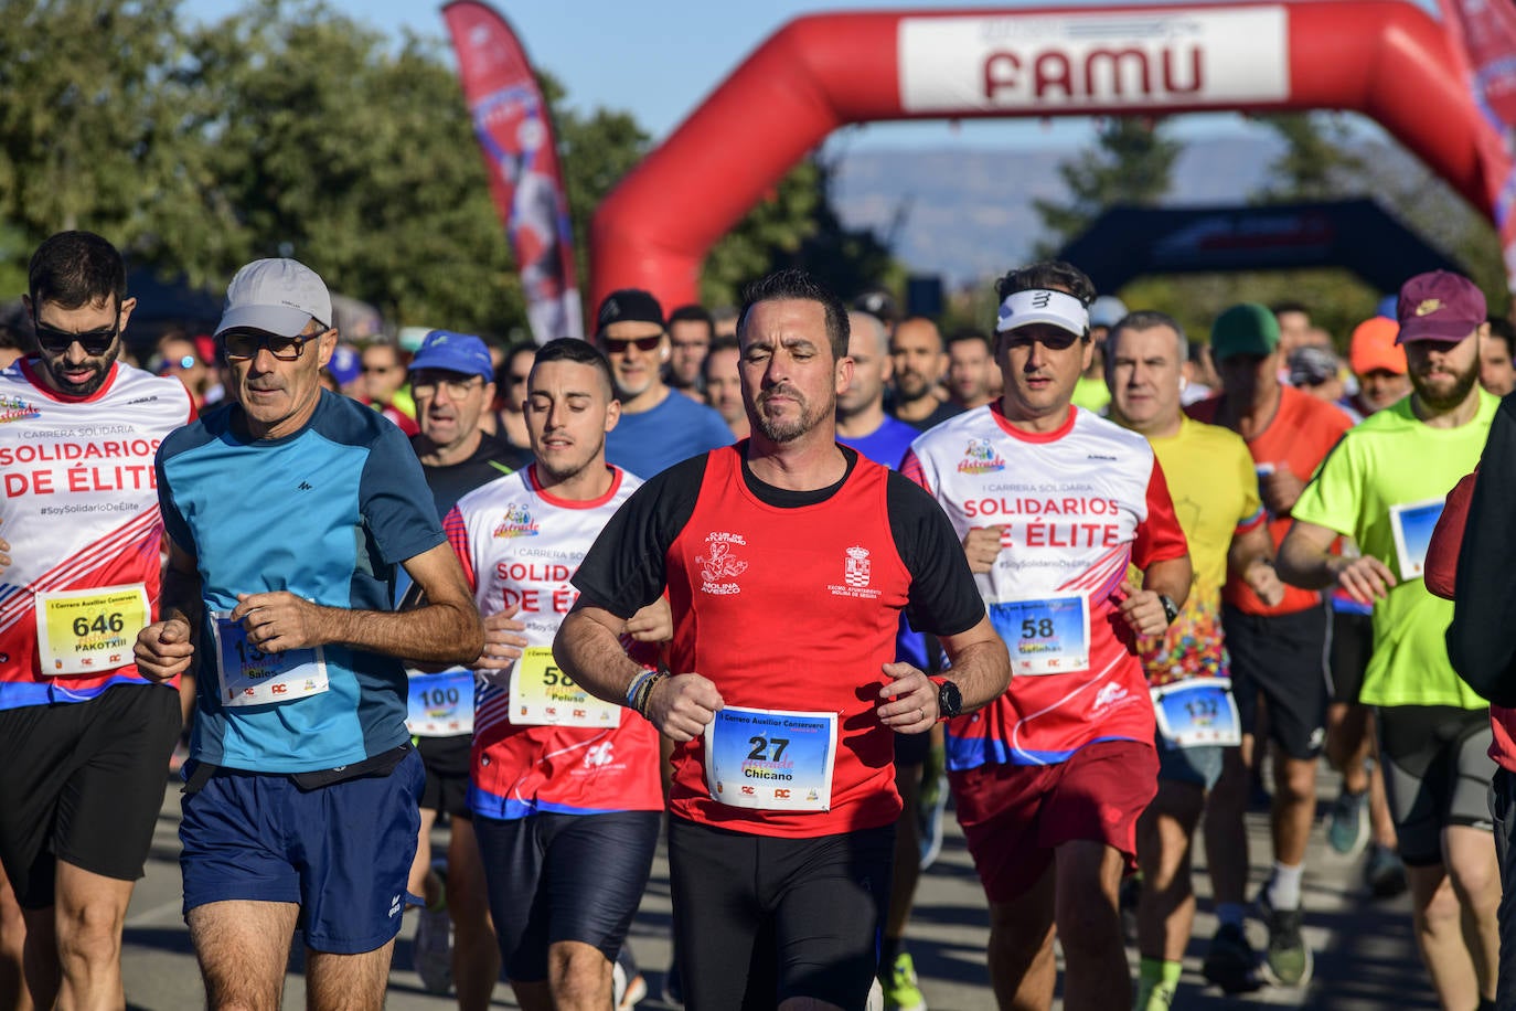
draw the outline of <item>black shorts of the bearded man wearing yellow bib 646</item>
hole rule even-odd
[[[0,711],[0,861],[23,908],[53,905],[59,859],[143,876],[180,726],[161,685]]]

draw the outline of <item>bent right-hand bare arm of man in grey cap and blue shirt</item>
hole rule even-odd
[[[341,644],[429,664],[471,664],[484,626],[452,547],[438,544],[402,562],[426,603],[412,611],[327,608],[293,593],[238,594],[233,621],[265,653]]]

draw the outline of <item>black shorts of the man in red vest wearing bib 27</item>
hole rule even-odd
[[[669,819],[688,1008],[813,997],[863,1011],[890,900],[894,825],[775,838]]]

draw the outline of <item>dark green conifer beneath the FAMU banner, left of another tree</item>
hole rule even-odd
[[[1049,235],[1038,256],[1052,256],[1113,205],[1157,205],[1169,192],[1182,146],[1164,121],[1116,117],[1099,126],[1096,146],[1058,165],[1069,202],[1032,200]]]

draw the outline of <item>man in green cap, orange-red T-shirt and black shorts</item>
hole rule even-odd
[[[1276,306],[1292,323],[1301,309]],[[1322,458],[1351,427],[1348,415],[1280,383],[1280,323],[1261,305],[1231,306],[1211,324],[1211,355],[1222,393],[1189,408],[1196,421],[1220,424],[1243,437],[1258,471],[1258,493],[1269,511],[1275,546],[1290,529],[1290,509]],[[1226,991],[1255,985],[1257,956],[1243,932],[1248,906],[1248,834],[1243,812],[1257,761],[1254,728],[1258,699],[1269,705],[1273,744],[1273,806],[1269,834],[1273,872],[1260,911],[1269,928],[1269,976],[1290,987],[1310,982],[1313,956],[1301,935],[1301,878],[1305,844],[1316,820],[1316,758],[1326,738],[1326,609],[1319,593],[1286,588],[1266,603],[1231,576],[1222,591],[1222,626],[1233,662],[1233,696],[1243,744],[1229,752],[1211,791],[1205,850],[1216,888],[1220,926],[1205,956],[1205,978]]]

